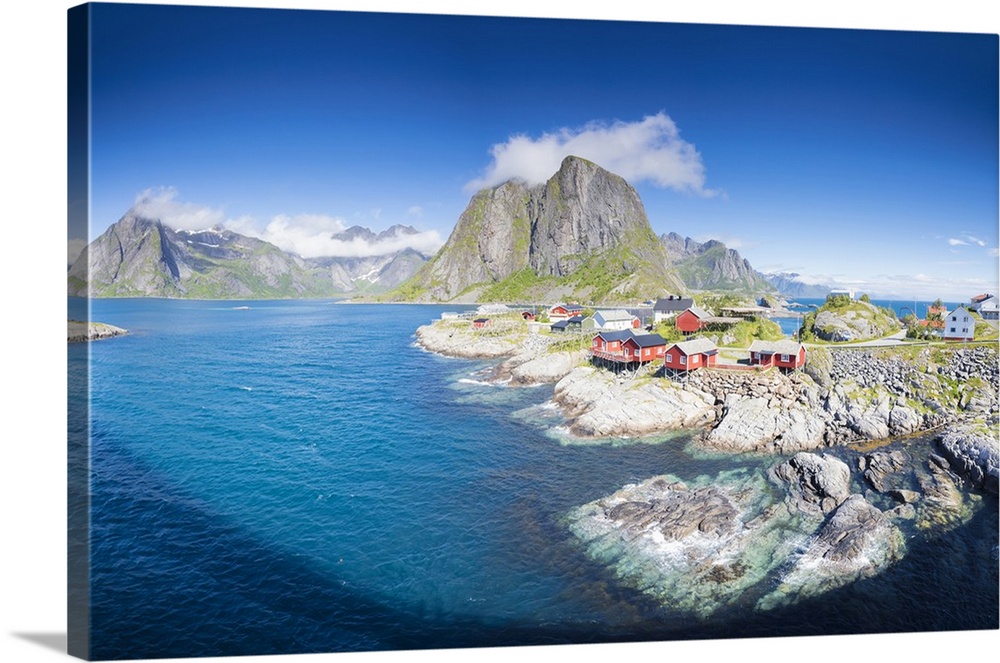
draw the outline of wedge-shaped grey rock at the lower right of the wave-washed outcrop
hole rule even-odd
[[[758,608],[787,605],[887,569],[905,554],[902,532],[861,495],[830,515],[778,588]]]

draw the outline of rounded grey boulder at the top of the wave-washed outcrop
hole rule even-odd
[[[787,484],[789,504],[811,515],[830,513],[851,494],[850,468],[829,454],[797,453],[771,468],[770,474]]]

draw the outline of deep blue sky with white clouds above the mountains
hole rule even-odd
[[[91,238],[141,200],[303,255],[353,250],[329,241],[353,224],[430,250],[477,187],[577,153],[658,234],[759,270],[1000,290],[995,34],[94,11]]]

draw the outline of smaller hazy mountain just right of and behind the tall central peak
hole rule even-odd
[[[774,287],[735,249],[711,239],[698,242],[677,233],[660,236],[670,266],[693,290],[773,292]]]

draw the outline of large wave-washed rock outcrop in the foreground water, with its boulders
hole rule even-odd
[[[902,533],[832,456],[796,454],[768,472],[681,482],[652,477],[573,509],[570,530],[625,583],[706,617],[774,587],[762,610],[874,576],[905,554]],[[773,484],[772,484],[773,485]]]

